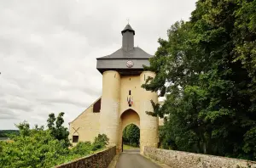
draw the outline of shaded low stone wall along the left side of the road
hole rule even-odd
[[[112,147],[96,154],[85,156],[79,160],[57,165],[55,168],[107,168],[115,154],[116,147]]]

